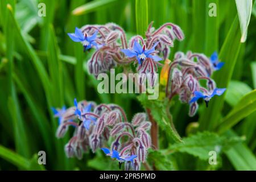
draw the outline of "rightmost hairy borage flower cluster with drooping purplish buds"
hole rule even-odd
[[[206,105],[213,96],[220,96],[225,88],[218,89],[210,76],[224,63],[218,61],[217,53],[210,58],[203,54],[177,52],[168,70],[166,95],[171,100],[176,94],[181,102],[189,104],[189,115],[192,117],[198,109],[197,100],[203,98]],[[206,80],[202,86],[201,80]]]

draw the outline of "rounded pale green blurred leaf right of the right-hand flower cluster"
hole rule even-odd
[[[228,89],[226,89],[225,101],[230,106],[235,106],[238,101],[245,96],[245,94],[251,92],[250,86],[242,81],[230,81]]]

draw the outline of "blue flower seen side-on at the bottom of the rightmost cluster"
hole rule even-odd
[[[193,102],[196,102],[197,100],[199,100],[200,98],[203,98],[207,107],[208,107],[208,102],[209,100],[213,97],[213,96],[221,96],[224,92],[225,92],[225,88],[223,89],[214,89],[212,94],[205,94],[205,93],[202,93],[202,92],[199,92],[199,91],[195,91],[194,92],[194,97],[191,99],[191,101],[189,101],[189,104],[193,103]]]

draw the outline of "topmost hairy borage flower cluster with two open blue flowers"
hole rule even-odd
[[[94,76],[109,71],[117,64],[138,62],[137,72],[141,75],[139,83],[144,81],[144,75],[150,75],[151,85],[154,85],[155,73],[158,65],[161,65],[158,61],[169,56],[175,39],[184,39],[179,26],[166,23],[155,30],[152,22],[147,28],[146,39],[136,35],[129,40],[129,44],[125,31],[114,23],[86,25],[81,29],[76,28],[75,34],[68,35],[74,42],[81,42],[84,51],[92,47],[97,49],[88,61],[88,70]],[[159,56],[163,56],[163,59]]]

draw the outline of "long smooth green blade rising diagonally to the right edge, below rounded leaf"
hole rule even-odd
[[[256,110],[256,89],[246,94],[226,117],[221,120],[217,127],[218,133],[230,129],[241,119],[247,117]]]

